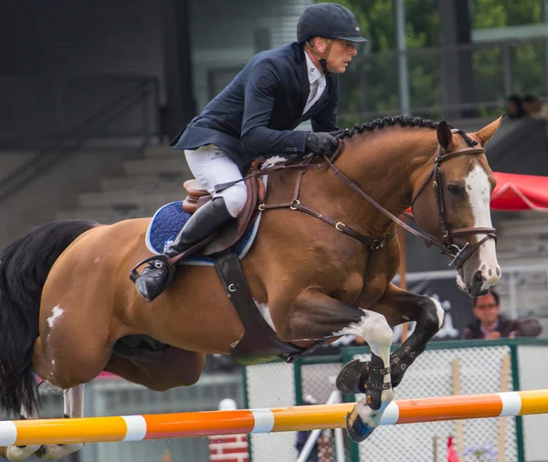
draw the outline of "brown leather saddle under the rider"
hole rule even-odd
[[[260,164],[258,161],[251,163],[248,175],[257,173],[259,169]],[[170,263],[175,263],[196,250],[201,250],[204,256],[209,256],[223,252],[237,243],[257,219],[258,205],[264,202],[266,196],[265,185],[260,176],[247,178],[245,184],[248,188],[248,200],[237,219],[229,221],[211,236],[188,248],[182,254],[171,258]],[[194,214],[198,208],[212,199],[211,194],[195,178],[185,181],[184,189],[187,195],[183,201],[183,210],[187,214]]]

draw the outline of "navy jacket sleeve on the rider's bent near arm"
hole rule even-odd
[[[271,130],[270,115],[274,108],[279,76],[269,61],[250,70],[245,89],[241,141],[244,149],[257,153],[291,153],[305,151],[308,131]]]

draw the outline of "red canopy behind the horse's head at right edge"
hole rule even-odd
[[[494,174],[497,187],[491,195],[492,210],[548,212],[548,176]]]

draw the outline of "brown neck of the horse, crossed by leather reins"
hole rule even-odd
[[[405,129],[402,129],[405,130]],[[378,133],[346,139],[344,151],[334,165],[358,184],[364,193],[394,215],[411,205],[413,183],[436,146],[436,132],[426,129],[398,133],[387,128]],[[429,166],[427,168],[430,168]],[[288,204],[294,197],[298,171],[272,173],[267,203]],[[329,168],[312,169],[302,177],[299,190],[302,205],[340,221],[365,236],[384,236],[394,223],[354,192]]]

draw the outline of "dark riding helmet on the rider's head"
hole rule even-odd
[[[298,42],[306,42],[312,37],[367,41],[360,35],[360,25],[353,12],[345,6],[332,3],[310,5],[300,15],[297,24]]]

